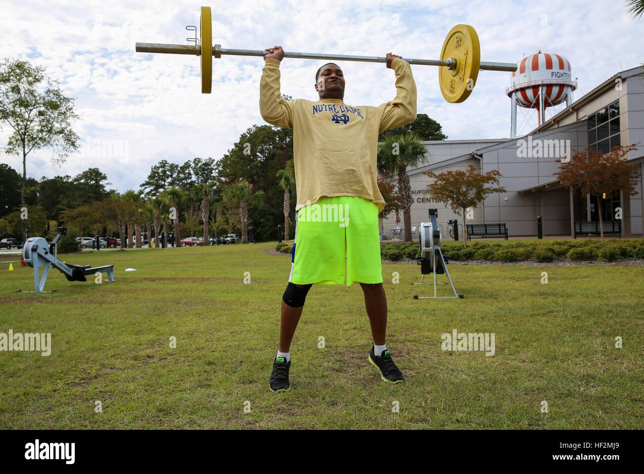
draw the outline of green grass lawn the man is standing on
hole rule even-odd
[[[314,286],[292,389],[276,394],[290,258],[272,248],[65,255],[114,263],[118,281],[68,282],[52,269],[45,290],[57,292],[44,294],[16,293],[33,290],[33,270],[3,264],[0,333],[51,333],[52,353],[0,351],[0,428],[644,428],[644,266],[450,265],[465,298],[415,300],[431,291],[409,284],[420,267],[383,264],[397,385],[367,360],[359,285]],[[443,351],[454,329],[495,333],[495,354]]]

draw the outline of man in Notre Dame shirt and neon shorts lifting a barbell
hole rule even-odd
[[[289,284],[282,297],[279,350],[270,390],[290,390],[290,344],[313,284],[359,282],[373,344],[368,360],[386,382],[403,373],[386,349],[387,300],[383,288],[378,214],[384,199],[377,183],[377,141],[384,130],[416,118],[410,64],[387,54],[396,97],[380,106],[345,104],[345,77],[335,63],[316,73],[318,101],[286,101],[279,90],[281,46],[268,48],[260,82],[260,112],[268,123],[293,129],[298,203]],[[346,273],[345,273],[346,267]]]

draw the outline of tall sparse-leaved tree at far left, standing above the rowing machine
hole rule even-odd
[[[27,155],[32,150],[51,147],[55,152],[53,161],[64,163],[67,155],[80,146],[80,137],[71,128],[71,121],[78,118],[73,99],[62,94],[58,81],[45,76],[43,67],[5,59],[0,67],[0,122],[8,123],[14,130],[5,152],[23,157],[23,206]],[[26,241],[24,222],[22,231]]]

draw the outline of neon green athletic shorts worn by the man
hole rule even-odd
[[[345,281],[383,282],[378,206],[362,197],[323,196],[296,213],[289,282]]]

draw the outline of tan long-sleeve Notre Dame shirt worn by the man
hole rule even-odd
[[[279,61],[267,58],[260,81],[260,113],[268,123],[293,129],[296,211],[320,197],[384,199],[378,189],[378,135],[416,119],[412,68],[396,58],[396,97],[374,106],[350,106],[341,99],[286,101],[279,91]]]

